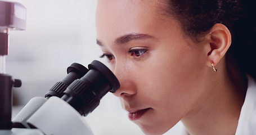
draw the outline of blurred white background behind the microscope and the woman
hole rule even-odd
[[[26,9],[26,30],[10,32],[6,72],[21,79],[14,89],[14,115],[33,97],[66,76],[73,62],[101,60],[96,44],[95,0],[16,0]],[[117,97],[108,93],[86,118],[95,135],[143,134],[130,122]]]

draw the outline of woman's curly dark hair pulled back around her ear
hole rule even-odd
[[[256,8],[253,1],[164,0],[164,6],[165,13],[181,22],[183,31],[192,39],[207,34],[214,24],[227,26],[232,36],[227,54],[235,59],[243,74],[256,78]]]

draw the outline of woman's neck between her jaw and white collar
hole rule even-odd
[[[241,74],[231,77],[219,67],[205,87],[206,96],[200,98],[193,109],[182,119],[188,133],[192,134],[235,134],[241,107],[247,89]],[[239,72],[238,72],[239,73]],[[233,79],[237,78],[237,79]]]

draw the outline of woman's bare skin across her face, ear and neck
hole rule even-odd
[[[147,109],[132,119],[145,134],[163,134],[179,120],[190,134],[235,134],[246,85],[226,70],[229,30],[216,24],[194,42],[159,5],[98,1],[97,43],[121,86],[114,95],[130,113]]]

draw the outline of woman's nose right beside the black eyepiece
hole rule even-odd
[[[132,73],[127,69],[127,67],[123,64],[115,65],[113,72],[120,83],[120,88],[114,93],[115,96],[124,97],[136,94],[136,82],[132,79]]]

